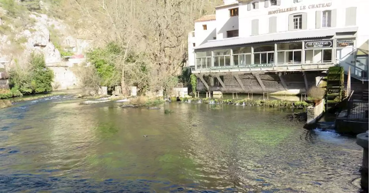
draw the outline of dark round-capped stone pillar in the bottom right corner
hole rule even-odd
[[[369,190],[369,130],[356,136],[356,144],[364,148],[361,168],[361,188]]]

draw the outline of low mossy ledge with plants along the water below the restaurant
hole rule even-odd
[[[241,106],[259,106],[273,108],[306,108],[311,104],[306,101],[286,101],[286,100],[252,100],[252,99],[198,99],[198,98],[179,98],[180,101],[186,103],[207,103],[207,104],[231,104]],[[170,101],[177,101],[172,97]]]

